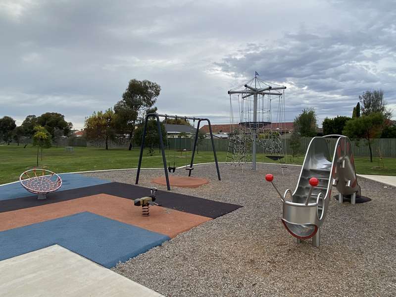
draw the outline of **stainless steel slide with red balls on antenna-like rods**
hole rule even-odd
[[[334,136],[338,140],[331,159],[326,138]],[[285,228],[297,243],[312,238],[315,247],[320,246],[320,227],[326,218],[332,187],[340,193],[340,203],[348,197],[351,204],[355,204],[356,198],[361,195],[350,140],[343,135],[314,137],[311,140],[293,194],[287,189],[282,195],[273,183],[272,174],[267,174],[265,179],[271,182],[282,200],[282,223]],[[288,195],[289,200],[286,198]]]

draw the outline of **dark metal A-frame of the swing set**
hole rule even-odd
[[[135,182],[136,185],[139,184],[139,175],[140,175],[140,169],[142,167],[143,150],[145,148],[145,140],[146,140],[146,134],[147,134],[147,124],[148,124],[148,119],[150,117],[155,117],[156,122],[157,122],[157,130],[158,130],[158,137],[159,137],[159,147],[160,147],[161,153],[162,153],[162,161],[163,161],[164,171],[165,171],[166,187],[167,187],[168,191],[170,191],[170,184],[169,184],[168,168],[167,168],[166,156],[165,156],[165,148],[164,148],[164,143],[163,143],[163,140],[162,140],[161,122],[159,121],[160,117],[174,118],[174,119],[185,119],[185,120],[194,120],[194,121],[198,120],[197,131],[196,131],[195,139],[194,139],[193,153],[191,155],[190,168],[187,168],[189,170],[189,176],[191,176],[191,172],[192,172],[192,168],[193,168],[194,155],[195,155],[195,150],[196,150],[197,142],[198,142],[198,131],[199,131],[200,122],[201,121],[206,121],[208,123],[208,125],[209,125],[209,133],[210,133],[210,140],[211,140],[212,148],[213,148],[213,156],[214,156],[214,161],[216,163],[217,178],[219,179],[219,181],[221,181],[219,164],[217,162],[216,149],[214,148],[212,126],[210,124],[209,119],[207,119],[207,118],[188,117],[188,116],[178,116],[178,115],[158,114],[158,113],[148,113],[146,115],[146,118],[145,118],[145,127],[143,129],[143,138],[142,138],[142,146],[140,148],[138,172],[136,174],[136,182]]]

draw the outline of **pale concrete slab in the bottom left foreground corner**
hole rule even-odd
[[[163,297],[64,247],[0,261],[1,297]]]

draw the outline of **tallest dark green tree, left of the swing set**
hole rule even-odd
[[[139,112],[154,105],[160,92],[161,87],[156,83],[132,79],[122,94],[122,100],[114,105],[114,112],[117,115],[116,127],[124,134],[128,134],[129,150],[132,149]]]

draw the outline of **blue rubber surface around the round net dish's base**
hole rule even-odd
[[[62,187],[58,191],[72,190],[110,183],[110,181],[107,180],[102,180],[96,177],[88,177],[75,173],[64,173],[59,174],[59,176],[62,179]],[[0,186],[0,200],[15,199],[30,195],[35,194],[26,191],[20,183]]]

